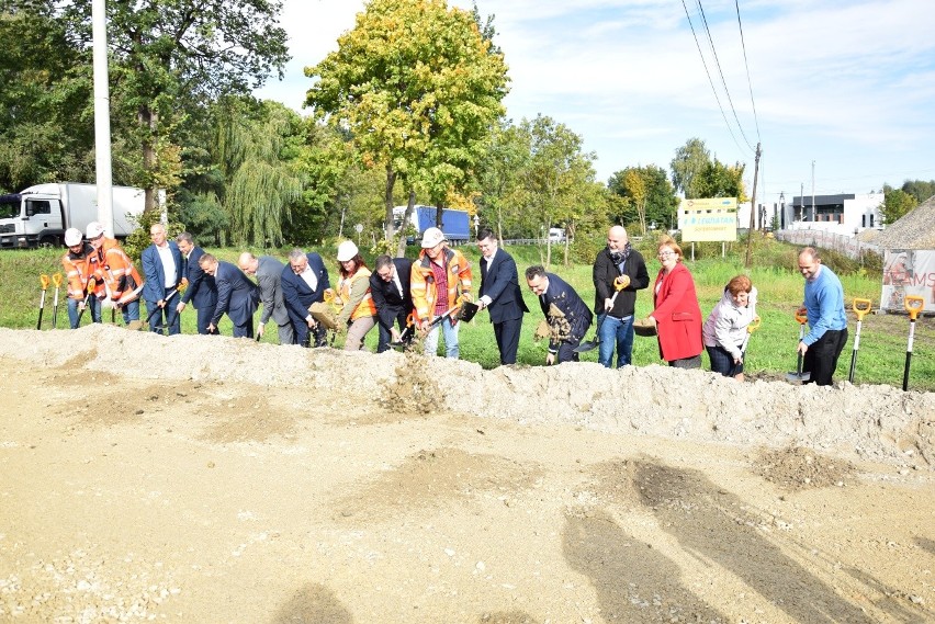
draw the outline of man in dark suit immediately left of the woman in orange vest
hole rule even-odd
[[[289,265],[282,270],[280,284],[295,342],[311,347],[314,336],[315,347],[324,347],[327,330],[308,313],[308,306],[325,300],[325,291],[331,287],[322,257],[314,251],[305,253],[293,249],[289,253]]]

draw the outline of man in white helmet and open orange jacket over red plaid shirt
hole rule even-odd
[[[419,329],[429,330],[424,347],[427,355],[438,351],[439,326],[444,334],[444,354],[458,359],[461,350],[458,344],[458,321],[446,316],[431,329],[436,317],[451,313],[461,300],[471,300],[471,264],[464,256],[449,249],[444,235],[437,227],[430,227],[423,234],[423,250],[413,262],[409,280],[413,291],[413,305]]]

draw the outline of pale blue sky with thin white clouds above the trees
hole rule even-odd
[[[449,5],[470,9],[471,1]],[[596,155],[600,181],[631,166],[668,171],[676,149],[695,137],[720,161],[746,164],[747,194],[759,144],[756,195],[767,205],[780,193],[790,201],[813,190],[868,193],[935,180],[935,1],[477,7],[494,15],[509,67],[507,116],[519,123],[542,114],[567,126]],[[284,0],[293,58],[284,79],[271,77],[256,95],[309,114],[302,104],[313,82],[303,68],[337,49],[363,10],[357,0]]]

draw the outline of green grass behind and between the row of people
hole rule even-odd
[[[642,243],[643,256],[647,259],[647,268],[651,281],[658,271],[658,262],[652,253],[652,245],[649,241]],[[710,246],[710,243],[708,243]],[[743,268],[743,252],[739,243],[730,249],[725,258],[720,257],[720,245],[710,249],[696,249],[701,251],[696,254],[697,260],[686,260],[691,271],[702,314],[707,316],[720,299],[724,284],[739,273],[747,273],[753,284],[759,292],[758,313],[763,318],[761,328],[751,337],[747,349],[746,372],[748,375],[761,378],[784,378],[786,373],[796,368],[796,344],[799,338],[799,325],[793,319],[795,310],[802,300],[802,277],[795,271],[796,253],[793,247],[780,242],[763,240],[757,241],[753,268],[746,271]],[[480,256],[474,246],[459,248],[471,261],[475,269],[474,279],[480,285]],[[207,249],[222,260],[236,262],[240,250],[235,249]],[[254,250],[260,254],[269,252],[280,260],[285,260],[288,250],[262,251]],[[330,259],[334,250],[318,250],[323,257]],[[414,253],[410,248],[409,252]],[[514,247],[507,251],[516,258],[520,271],[520,283],[523,290],[526,304],[531,310],[523,322],[523,332],[519,343],[518,362],[528,365],[541,365],[545,361],[545,344],[533,342],[531,336],[536,324],[542,318],[537,298],[526,287],[522,272],[530,264],[541,262],[541,250],[537,247]],[[60,272],[60,250],[30,250],[30,251],[0,251],[0,327],[14,329],[34,329],[38,314],[40,279],[43,273],[52,274]],[[686,249],[686,256],[690,258],[690,251]],[[590,305],[594,300],[594,286],[590,280],[590,264],[576,263],[562,266],[562,249],[554,248],[552,253],[553,263],[551,271],[559,273],[571,283],[585,303]],[[859,266],[845,266],[840,269],[833,264],[832,259],[825,260],[842,277],[845,302],[849,307],[854,297],[874,300],[875,308],[879,304],[880,275],[872,270],[867,271]],[[842,264],[844,262],[842,261]],[[334,275],[337,274],[334,262],[328,261],[328,269]],[[652,287],[652,286],[651,286]],[[641,291],[637,297],[637,315],[647,316],[652,311],[651,287]],[[60,297],[64,297],[64,290]],[[53,290],[49,288],[46,297],[46,309],[43,317],[43,328],[52,327],[52,300]],[[145,315],[145,307],[144,313]],[[848,326],[849,339],[838,362],[835,379],[846,379],[850,368],[850,356],[853,351],[854,334],[856,331],[856,316],[849,314]],[[89,322],[86,317],[83,322]],[[104,322],[110,322],[110,314],[104,310]],[[122,322],[117,315],[117,322]],[[64,300],[58,310],[58,328],[67,329],[68,318]],[[855,370],[855,383],[857,384],[890,384],[901,387],[905,363],[906,339],[909,334],[909,319],[904,315],[867,315],[864,317],[860,333],[860,350],[857,355]],[[269,328],[273,329],[273,328]],[[221,322],[223,333],[230,334],[230,324],[226,317]],[[182,331],[195,333],[194,311],[187,309],[182,314]],[[587,336],[593,337],[594,329]],[[275,331],[268,331],[263,342],[274,343]],[[460,332],[461,358],[463,360],[477,362],[484,368],[493,368],[499,358],[494,341],[493,328],[485,313],[480,313],[470,324],[465,324]],[[337,344],[340,344],[338,339]],[[371,331],[367,337],[367,347],[375,350],[376,331]],[[708,358],[703,354],[703,367],[708,368]],[[582,355],[583,361],[596,362],[597,350]],[[660,363],[658,348],[655,339],[635,339],[633,345],[633,363],[638,366]],[[935,319],[920,318],[915,327],[914,349],[912,366],[909,379],[910,389],[935,392]]]

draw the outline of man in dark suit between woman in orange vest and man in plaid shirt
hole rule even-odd
[[[370,276],[370,296],[376,308],[380,340],[376,352],[390,349],[390,340],[399,340],[394,322],[399,330],[406,328],[406,317],[413,313],[413,294],[409,292],[409,274],[413,261],[406,258],[379,256]]]

